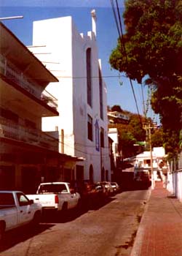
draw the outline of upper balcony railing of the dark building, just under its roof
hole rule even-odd
[[[41,86],[31,79],[27,79],[20,69],[17,69],[9,60],[0,54],[0,72],[9,80],[15,82],[18,86],[28,91],[37,99],[41,99],[51,108],[58,108],[58,99],[52,96],[48,91],[42,92]]]

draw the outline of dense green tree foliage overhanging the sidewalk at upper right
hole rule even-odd
[[[124,37],[110,56],[114,69],[153,89],[151,105],[167,135],[176,139],[182,127],[182,0],[127,0]],[[169,149],[170,138],[165,136]],[[176,148],[173,150],[175,154]]]

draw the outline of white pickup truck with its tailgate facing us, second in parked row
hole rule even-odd
[[[66,211],[79,205],[80,195],[71,189],[68,182],[41,183],[36,195],[27,195],[29,199],[40,203],[42,209]]]

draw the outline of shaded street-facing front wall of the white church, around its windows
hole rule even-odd
[[[75,154],[84,156],[85,178],[89,178],[89,167],[93,166],[94,179],[100,181],[100,161],[105,170],[110,171],[110,162],[108,159],[108,119],[106,102],[106,84],[103,81],[103,120],[100,118],[100,97],[99,97],[99,74],[98,74],[98,48],[95,41],[95,35],[88,32],[87,35],[78,33],[73,23],[73,75],[74,79],[74,135],[75,135]],[[92,56],[92,108],[87,105],[87,71],[86,71],[86,50],[91,48]],[[93,121],[93,141],[87,139],[87,114]],[[102,152],[95,149],[95,121],[98,120],[99,127],[105,131],[104,146]],[[84,152],[84,153],[83,153]],[[100,160],[100,157],[102,160]],[[109,175],[111,178],[111,173]]]

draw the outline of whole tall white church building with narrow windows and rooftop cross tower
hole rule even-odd
[[[87,35],[77,31],[71,16],[35,21],[28,48],[59,80],[46,88],[58,99],[59,116],[42,118],[42,129],[59,132],[60,153],[84,159],[71,173],[76,181],[110,181],[107,92],[98,60],[95,10],[91,18]]]

